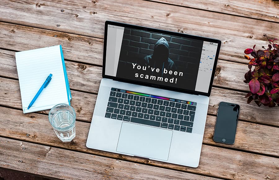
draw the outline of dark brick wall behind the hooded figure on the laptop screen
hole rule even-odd
[[[153,54],[154,44],[161,37],[167,40],[169,58],[175,62],[178,71],[181,69],[185,71],[185,68],[196,68],[199,65],[202,41],[129,28],[124,30],[119,57],[119,61],[122,61],[120,64],[141,64],[145,56]]]

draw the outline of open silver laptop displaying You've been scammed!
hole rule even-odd
[[[106,21],[86,147],[197,167],[220,45]]]

